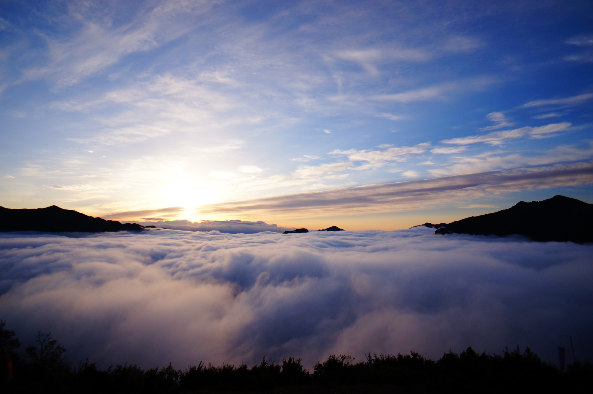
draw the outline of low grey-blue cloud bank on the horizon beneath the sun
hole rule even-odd
[[[192,222],[189,220],[162,220],[160,218],[146,218],[149,221],[133,221],[141,225],[154,225],[156,227],[170,228],[172,230],[184,231],[220,231],[231,234],[254,234],[262,231],[273,231],[282,233],[286,230],[294,230],[294,227],[278,227],[277,224],[267,224],[263,221],[241,221],[241,220],[203,220]]]

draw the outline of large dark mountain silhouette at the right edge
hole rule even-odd
[[[520,234],[534,241],[593,242],[593,204],[565,196],[544,201],[520,201],[509,209],[472,216],[446,224],[436,234],[508,236]]]

